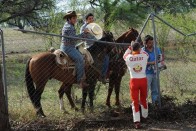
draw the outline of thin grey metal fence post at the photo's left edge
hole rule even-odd
[[[8,113],[8,95],[7,95],[7,77],[6,77],[6,65],[5,65],[5,47],[4,47],[4,37],[3,37],[3,30],[0,29],[0,34],[1,34],[1,40],[0,40],[0,43],[1,43],[1,49],[2,49],[2,73],[3,74],[0,74],[2,75],[3,77],[3,86],[4,86],[4,94],[5,94],[5,100],[6,100],[6,111]]]

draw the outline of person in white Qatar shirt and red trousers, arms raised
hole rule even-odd
[[[132,112],[133,122],[135,128],[140,128],[140,108],[142,118],[148,116],[148,104],[147,98],[147,78],[146,78],[146,66],[148,61],[148,54],[141,50],[138,42],[132,43],[132,45],[126,50],[123,56],[126,65],[130,72],[130,96],[132,99]]]

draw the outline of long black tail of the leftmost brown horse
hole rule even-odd
[[[26,71],[25,71],[25,83],[27,86],[27,92],[29,94],[29,97],[31,99],[31,102],[34,104],[35,103],[35,99],[34,94],[35,94],[35,86],[33,84],[33,79],[31,77],[30,71],[29,71],[29,63],[30,63],[31,59],[28,60],[27,64],[26,64]]]

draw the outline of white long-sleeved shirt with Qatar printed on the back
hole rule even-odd
[[[131,78],[145,78],[148,54],[141,50],[140,54],[130,54],[131,48],[128,48],[123,58],[130,72]]]

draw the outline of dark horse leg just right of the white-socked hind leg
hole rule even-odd
[[[72,87],[72,84],[67,85],[64,91],[65,91],[65,94],[66,94],[66,96],[67,96],[67,98],[69,100],[69,103],[71,105],[71,108],[74,108],[75,110],[78,111],[78,108],[76,107],[76,105],[73,102],[73,99],[71,97],[71,87]]]

